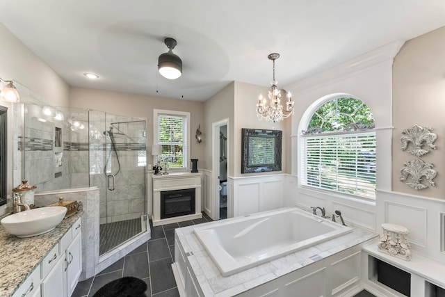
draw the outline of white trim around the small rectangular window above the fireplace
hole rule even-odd
[[[191,113],[188,111],[170,111],[167,109],[153,109],[153,144],[158,144],[158,116],[159,115],[176,115],[186,117],[186,167],[181,168],[169,168],[169,171],[188,171],[190,169],[190,160],[191,160]],[[153,159],[153,164],[155,163],[155,159]]]

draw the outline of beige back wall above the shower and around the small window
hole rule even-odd
[[[188,111],[191,113],[191,158],[202,159],[204,155],[204,145],[195,141],[195,131],[198,125],[201,127],[204,125],[204,103],[202,102],[73,87],[70,90],[70,107],[146,118],[148,154],[150,154],[153,144],[153,109]],[[152,163],[152,161],[148,159],[148,163]],[[202,168],[200,162],[198,162],[198,167]]]

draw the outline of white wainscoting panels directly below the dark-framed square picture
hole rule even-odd
[[[229,177],[227,182],[229,205],[233,205],[233,216],[244,216],[285,206],[286,175],[284,174]]]

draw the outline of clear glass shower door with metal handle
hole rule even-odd
[[[145,120],[103,113],[99,255],[147,230]],[[97,152],[97,153],[99,153]]]

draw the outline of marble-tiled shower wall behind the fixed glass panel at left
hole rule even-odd
[[[89,186],[88,114],[70,115],[71,123],[73,118],[82,123],[76,127],[57,120],[42,122],[39,117],[42,113],[41,106],[29,105],[25,109],[24,137],[19,131],[17,138],[17,150],[24,152],[24,177],[37,186],[36,191]],[[54,146],[56,127],[61,129],[61,147]],[[56,153],[61,153],[61,166],[57,165]],[[17,170],[17,175],[18,173],[22,175],[21,170]]]

